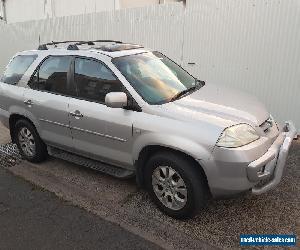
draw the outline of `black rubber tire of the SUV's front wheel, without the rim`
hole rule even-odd
[[[152,174],[158,166],[169,166],[183,178],[187,187],[186,205],[180,210],[172,210],[161,203],[152,186]],[[147,190],[155,204],[167,215],[178,218],[191,218],[206,204],[206,187],[204,180],[197,171],[197,166],[187,158],[175,153],[159,153],[149,159],[145,166],[144,178]]]

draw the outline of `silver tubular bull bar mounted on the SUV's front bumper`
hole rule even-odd
[[[253,187],[253,194],[265,193],[276,187],[281,181],[288,152],[297,131],[292,122],[286,122],[283,132],[278,136],[269,150],[247,168],[248,179],[259,182],[270,178],[270,181],[260,187]]]

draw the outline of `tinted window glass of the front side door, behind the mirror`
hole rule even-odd
[[[124,91],[110,69],[91,59],[75,59],[75,83],[80,98],[101,103],[105,102],[107,93]]]

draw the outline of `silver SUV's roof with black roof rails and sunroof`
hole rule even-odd
[[[75,46],[75,47],[74,47]],[[135,54],[151,52],[141,45],[131,43],[108,43],[108,44],[87,44],[83,42],[53,42],[49,44],[40,45],[37,50],[27,50],[18,53],[18,55],[32,55],[38,54],[42,56],[48,55],[89,55],[98,57],[100,55],[117,58]]]

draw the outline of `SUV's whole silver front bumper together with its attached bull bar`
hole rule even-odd
[[[295,135],[293,123],[286,122],[281,132],[273,126],[268,136],[243,147],[215,147],[208,160],[199,160],[212,196],[232,196],[249,190],[261,194],[274,188],[282,178]]]

